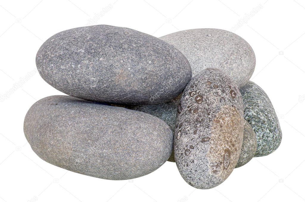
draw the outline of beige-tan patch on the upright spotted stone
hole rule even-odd
[[[223,106],[213,120],[210,150],[206,157],[209,172],[225,180],[238,161],[243,138],[243,117],[232,106]]]

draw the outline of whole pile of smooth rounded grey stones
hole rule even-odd
[[[24,134],[40,158],[73,172],[132,179],[168,160],[209,189],[282,139],[268,96],[249,81],[255,54],[235,33],[80,27],[49,38],[36,65],[69,96],[34,103]]]

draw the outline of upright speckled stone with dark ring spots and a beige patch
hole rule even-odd
[[[199,189],[222,183],[236,166],[243,138],[242,97],[222,71],[208,68],[185,87],[174,155],[183,179]]]

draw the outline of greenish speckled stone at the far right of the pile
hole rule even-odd
[[[249,82],[240,89],[244,117],[253,128],[257,139],[254,157],[274,152],[282,141],[282,131],[272,103],[256,83]]]

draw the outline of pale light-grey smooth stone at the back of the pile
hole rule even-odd
[[[205,68],[218,68],[238,86],[245,85],[255,68],[251,46],[235,33],[219,29],[184,30],[160,37],[188,59],[192,76]]]

